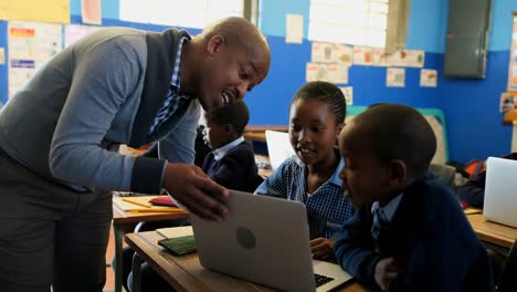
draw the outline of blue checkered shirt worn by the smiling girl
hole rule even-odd
[[[307,166],[297,158],[288,158],[258,186],[255,194],[303,202],[307,209],[310,239],[331,238],[355,211],[341,189],[339,171],[344,165],[341,159],[334,175],[309,196]]]

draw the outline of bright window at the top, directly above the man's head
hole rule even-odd
[[[244,0],[119,0],[120,20],[202,29],[221,18],[244,17]]]

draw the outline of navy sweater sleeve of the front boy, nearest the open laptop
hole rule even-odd
[[[369,208],[363,207],[342,225],[337,233],[334,249],[338,263],[344,270],[365,284],[377,286],[374,269],[381,258],[373,252],[368,213]]]

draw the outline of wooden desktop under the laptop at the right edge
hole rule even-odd
[[[517,239],[517,228],[488,221],[481,212],[467,215],[467,219],[483,241],[509,249]]]

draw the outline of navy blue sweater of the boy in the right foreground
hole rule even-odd
[[[407,273],[390,284],[390,291],[494,291],[486,250],[443,181],[428,173],[403,194],[378,240],[370,231],[371,206],[345,222],[335,244],[339,264],[378,288],[376,264],[394,257]]]

